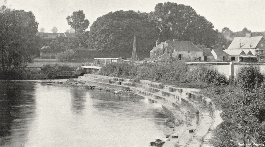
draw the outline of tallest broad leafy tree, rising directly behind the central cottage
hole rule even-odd
[[[161,40],[189,40],[194,44],[211,46],[218,37],[218,31],[204,16],[183,4],[173,2],[158,3],[149,15],[160,29]]]

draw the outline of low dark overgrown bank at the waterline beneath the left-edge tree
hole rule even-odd
[[[73,71],[74,67],[68,65],[43,65],[41,70],[29,68],[12,68],[3,72],[0,80],[38,80],[54,79],[56,74],[62,71]]]

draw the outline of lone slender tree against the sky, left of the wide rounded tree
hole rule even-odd
[[[66,20],[75,31],[84,31],[89,26],[89,21],[85,19],[85,14],[82,10],[73,12],[72,16],[67,16]]]

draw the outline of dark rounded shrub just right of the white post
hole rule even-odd
[[[248,66],[241,68],[237,73],[237,84],[245,91],[252,91],[258,88],[264,79],[257,66]]]

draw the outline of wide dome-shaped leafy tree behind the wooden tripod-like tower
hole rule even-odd
[[[136,50],[149,51],[155,45],[158,31],[148,21],[148,13],[135,11],[109,12],[99,17],[90,27],[89,47],[102,51],[129,51],[136,36]]]

